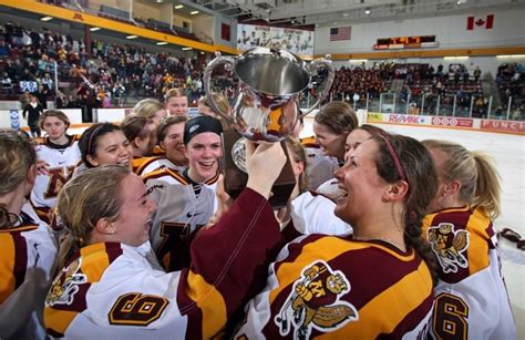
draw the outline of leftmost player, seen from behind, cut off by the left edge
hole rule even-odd
[[[1,339],[45,339],[40,320],[56,246],[48,226],[23,210],[37,177],[35,162],[25,136],[0,131]]]

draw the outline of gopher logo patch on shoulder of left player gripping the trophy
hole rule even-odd
[[[56,276],[45,298],[47,306],[71,305],[73,302],[74,295],[79,291],[79,285],[87,282],[87,277],[79,272],[81,264],[82,258],[78,258]]]

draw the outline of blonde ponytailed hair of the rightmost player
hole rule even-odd
[[[443,168],[437,169],[443,181],[461,183],[460,199],[473,208],[481,208],[492,219],[501,214],[500,174],[492,158],[481,152],[470,152],[460,144],[428,140],[429,150],[446,155]]]

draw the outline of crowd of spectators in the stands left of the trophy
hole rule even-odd
[[[191,101],[203,95],[202,59],[148,53],[99,40],[87,47],[71,35],[28,31],[12,22],[0,27],[0,58],[4,95],[42,90],[41,101],[56,95],[58,107],[106,107],[122,104],[125,96],[162,97],[172,87],[185,87]],[[54,62],[60,83],[70,85],[58,93]],[[20,81],[31,82],[27,86],[33,87],[20,87]]]

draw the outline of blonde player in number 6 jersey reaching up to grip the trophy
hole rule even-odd
[[[259,146],[231,209],[192,243],[191,266],[171,274],[152,268],[136,248],[148,238],[155,209],[140,177],[110,165],[73,178],[58,210],[81,248],[47,297],[49,334],[210,339],[219,333],[247,298],[253,272],[267,268],[267,254],[280,243],[267,199],[285,161],[280,144]]]

